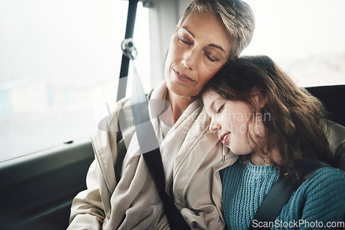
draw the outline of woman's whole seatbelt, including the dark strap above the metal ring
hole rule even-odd
[[[143,155],[146,165],[148,166],[148,171],[150,171],[152,179],[155,181],[159,197],[163,202],[164,211],[166,213],[170,229],[190,229],[186,223],[186,220],[184,220],[183,216],[175,206],[175,203],[172,201],[172,198],[170,198],[170,196],[166,193],[164,167],[161,161],[161,152],[159,150],[155,129],[153,129],[148,113],[148,101],[144,88],[137,74],[137,70],[135,70],[135,56],[132,55],[130,50],[126,50],[128,48],[135,49],[130,39],[132,38],[134,31],[137,3],[138,0],[129,0],[126,35],[123,44],[121,44],[124,54],[122,55],[121,61],[117,101],[126,96],[128,69],[130,60],[132,60],[134,75],[132,81],[131,107],[141,154]]]

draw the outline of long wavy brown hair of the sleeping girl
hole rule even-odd
[[[251,100],[253,90],[266,97],[261,113],[270,115],[263,121],[267,142],[259,146],[281,173],[304,158],[333,165],[324,105],[306,89],[297,87],[268,56],[242,56],[226,64],[206,85],[204,92],[208,90],[230,101],[248,103],[253,109],[249,123],[255,122],[257,111]],[[248,138],[254,141],[250,135],[248,132]],[[279,162],[273,160],[273,151],[279,153]]]

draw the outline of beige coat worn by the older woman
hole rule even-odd
[[[127,107],[128,105],[130,105],[128,99],[117,103],[117,107],[120,108]],[[130,143],[130,139],[135,132],[132,125],[132,114],[128,109],[121,111],[124,112],[122,118],[126,120],[126,126],[129,127],[125,130],[121,129],[122,136],[126,143]],[[175,156],[173,163],[172,192],[175,205],[177,205],[182,216],[184,216],[192,229],[224,229],[225,222],[221,214],[221,180],[219,178],[219,170],[233,164],[237,160],[237,156],[228,151],[225,163],[221,163],[223,145],[215,134],[208,132],[210,121],[202,105],[197,106],[194,114],[197,114],[196,120],[190,124],[190,127],[186,127],[185,130],[188,130],[188,133],[183,134],[184,139],[181,141],[181,146],[177,146],[179,153]],[[119,196],[122,195],[121,190],[119,190],[120,192],[117,191],[117,197],[112,197],[116,192],[115,189],[120,189],[117,187],[120,182],[117,182],[115,169],[119,163],[117,158],[122,152],[119,148],[124,148],[124,142],[117,143],[117,132],[115,131],[117,129],[118,116],[119,114],[113,114],[108,118],[108,127],[115,127],[112,132],[102,131],[102,127],[99,127],[92,135],[95,160],[90,166],[86,178],[88,189],[81,191],[73,200],[70,227],[68,229],[111,229],[113,227],[110,223],[116,222],[117,220],[114,219],[125,215],[121,211],[119,215],[114,215],[112,213],[114,212],[112,210],[115,210],[112,207],[114,204],[111,201],[112,199],[121,199]],[[195,132],[196,130],[197,132]],[[181,134],[181,136],[183,135]],[[175,136],[179,138],[179,134]],[[141,158],[142,156],[137,156],[137,162],[142,160]],[[124,176],[126,169],[130,169],[128,167],[130,163],[128,162],[130,160],[125,158],[121,177]],[[137,166],[135,170],[141,169]],[[139,175],[141,176],[141,174]],[[152,188],[155,189],[154,185],[151,185]],[[129,190],[125,189],[124,193],[127,191]],[[157,196],[155,191],[148,191],[148,193]],[[141,199],[147,200],[145,197]],[[121,202],[119,203],[121,204]],[[160,218],[159,208],[161,206],[158,206],[158,211],[152,211],[151,216],[148,216],[148,218],[151,218],[150,221],[157,221],[156,229],[167,229],[166,217]],[[121,205],[119,209],[121,209]],[[128,215],[127,212],[126,215]],[[130,227],[130,229],[140,229],[140,227]]]

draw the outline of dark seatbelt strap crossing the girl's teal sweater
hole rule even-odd
[[[274,222],[290,196],[302,184],[306,176],[321,167],[330,167],[330,165],[314,159],[299,160],[290,173],[279,176],[257,209],[253,220],[266,223]],[[255,228],[252,221],[249,230],[253,229],[270,229],[270,227]]]

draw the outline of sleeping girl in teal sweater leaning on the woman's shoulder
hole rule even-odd
[[[279,175],[298,160],[332,164],[322,103],[297,87],[268,56],[241,57],[223,67],[206,85],[203,101],[210,131],[239,155],[234,165],[220,171],[228,229],[248,229]],[[345,174],[322,167],[290,196],[272,227],[303,220],[288,226],[334,229],[334,222],[344,227],[344,213]]]

